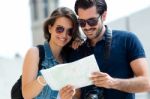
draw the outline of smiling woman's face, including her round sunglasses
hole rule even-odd
[[[59,17],[53,26],[49,25],[49,33],[51,35],[50,43],[53,46],[63,47],[72,38],[73,23],[69,18]]]

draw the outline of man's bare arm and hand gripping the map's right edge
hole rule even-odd
[[[150,78],[148,76],[148,63],[146,59],[139,58],[133,60],[130,65],[135,75],[134,78],[112,78],[107,73],[95,72],[91,79],[99,87],[131,93],[150,91]]]

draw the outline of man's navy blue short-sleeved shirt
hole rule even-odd
[[[113,30],[110,56],[107,61],[104,60],[104,44],[105,39],[97,42],[95,47],[90,47],[88,42],[85,42],[79,49],[70,51],[68,60],[74,61],[94,54],[102,72],[106,72],[114,78],[126,79],[134,77],[130,62],[145,57],[143,46],[136,35],[131,32]],[[84,99],[91,88],[92,86],[82,88],[81,99]],[[104,99],[135,99],[135,94],[133,93],[114,89],[99,89],[103,90]]]

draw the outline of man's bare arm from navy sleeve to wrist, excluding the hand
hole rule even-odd
[[[133,60],[131,68],[135,77],[130,79],[116,79],[114,88],[126,92],[143,92],[150,90],[150,81],[148,76],[148,63],[145,58]]]

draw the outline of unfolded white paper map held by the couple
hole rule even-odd
[[[68,84],[75,88],[91,85],[89,77],[94,71],[100,70],[95,56],[90,55],[71,63],[58,64],[52,68],[41,70],[41,73],[53,90],[60,90]]]

